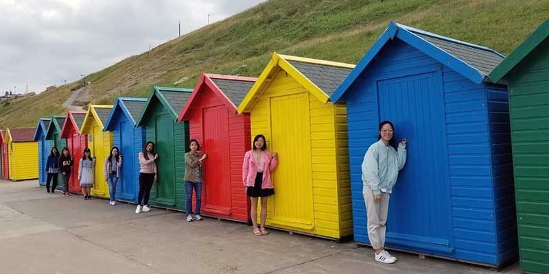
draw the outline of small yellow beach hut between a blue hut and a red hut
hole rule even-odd
[[[108,198],[108,185],[103,177],[103,163],[113,147],[113,134],[103,132],[104,123],[113,105],[89,105],[80,128],[80,135],[88,135],[88,147],[91,156],[95,157],[95,184],[91,188],[91,195]]]

